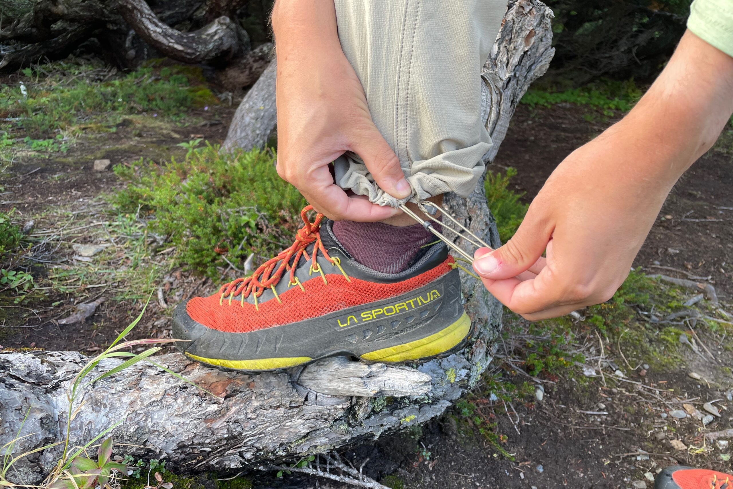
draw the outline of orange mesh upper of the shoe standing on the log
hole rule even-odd
[[[220,293],[194,297],[186,304],[186,312],[194,321],[214,330],[248,333],[404,294],[450,272],[453,262],[453,257],[449,256],[438,267],[397,283],[374,283],[354,277],[349,283],[344,275],[326,274],[328,284],[325,284],[317,275],[303,283],[305,291],[294,286],[280,294],[282,303],[270,299],[259,303],[259,311],[254,304],[238,300],[232,300],[229,304],[229,300],[225,299],[219,305]]]

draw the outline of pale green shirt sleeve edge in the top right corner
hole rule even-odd
[[[723,53],[733,56],[733,1],[693,1],[688,29]]]

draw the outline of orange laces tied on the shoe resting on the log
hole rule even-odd
[[[303,286],[301,285],[300,280],[295,277],[295,269],[296,267],[298,267],[298,261],[300,261],[301,256],[305,256],[306,260],[312,259],[313,263],[311,265],[311,271],[320,272],[323,280],[325,281],[323,270],[320,269],[316,261],[318,250],[323,253],[323,256],[326,260],[328,260],[332,264],[336,264],[339,269],[341,268],[340,263],[337,261],[337,258],[331,258],[330,256],[328,256],[328,252],[326,252],[325,247],[323,247],[323,243],[320,239],[319,230],[321,221],[323,221],[324,216],[320,213],[316,214],[316,218],[313,220],[313,222],[310,222],[307,213],[308,211],[312,210],[313,206],[306,206],[301,211],[301,217],[303,218],[304,225],[298,230],[298,234],[295,236],[295,242],[292,243],[292,246],[290,246],[286,250],[282,250],[274,258],[270,258],[268,261],[265,261],[265,263],[257,267],[257,269],[251,276],[246,278],[237,278],[236,280],[232,280],[232,282],[225,283],[223,286],[221,286],[221,289],[219,289],[219,293],[221,294],[221,297],[219,299],[220,304],[224,301],[224,297],[227,296],[229,296],[229,302],[231,303],[232,297],[235,297],[237,295],[241,294],[242,301],[244,301],[244,298],[249,297],[249,294],[254,294],[255,306],[257,306],[257,297],[261,296],[265,292],[265,289],[268,288],[272,289],[278,302],[281,302],[280,298],[277,296],[277,292],[275,291],[274,286],[281,280],[284,273],[288,270],[290,270],[290,282],[288,283],[288,285],[298,285],[301,287],[301,290],[305,291],[305,289],[303,289]],[[306,247],[312,242],[315,242],[316,245],[313,248],[312,256],[308,256],[308,253],[306,252]],[[293,256],[295,256],[295,259],[292,260],[291,267],[290,258],[292,258]]]

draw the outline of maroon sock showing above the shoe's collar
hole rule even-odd
[[[356,261],[383,273],[402,272],[411,265],[421,247],[438,240],[420,224],[393,226],[383,222],[336,221],[333,231]]]

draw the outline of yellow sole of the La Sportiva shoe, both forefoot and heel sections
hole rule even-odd
[[[471,318],[468,314],[454,322],[452,325],[444,328],[438,333],[434,333],[425,338],[415,341],[409,341],[405,344],[399,344],[395,347],[377,349],[373,352],[361,355],[361,358],[368,361],[380,362],[408,362],[419,360],[420,358],[433,357],[447,352],[449,349],[456,347],[468,335],[471,330]],[[224,369],[246,370],[251,372],[268,371],[276,369],[287,369],[293,366],[303,365],[313,360],[310,357],[283,357],[283,358],[260,358],[258,360],[224,360],[221,358],[205,358],[198,355],[185,353],[191,360],[207,363]]]

